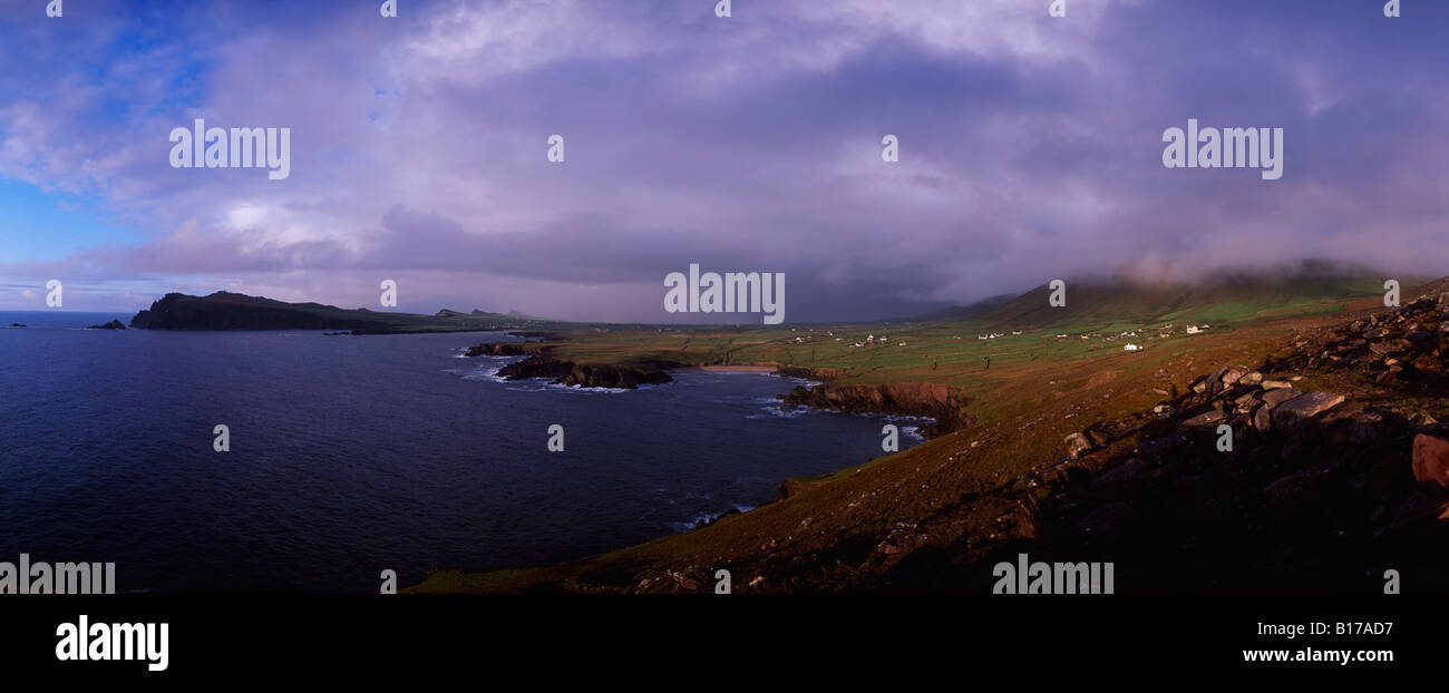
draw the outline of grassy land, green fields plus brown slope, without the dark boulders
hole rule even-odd
[[[955,384],[969,394],[962,418],[971,423],[894,455],[862,449],[862,464],[791,480],[787,497],[709,528],[565,565],[439,571],[412,592],[698,592],[716,568],[732,571],[736,592],[881,589],[904,555],[971,555],[1003,541],[1004,518],[1020,512],[1020,497],[1003,489],[1061,460],[1068,433],[1140,416],[1223,364],[1262,361],[1291,349],[1304,331],[1381,310],[1379,287],[1342,280],[1300,290],[1285,283],[1278,293],[1084,289],[1069,294],[1074,310],[1059,315],[1037,307],[1046,306],[1039,290],[936,323],[571,333],[558,346],[571,358],[727,358],[819,368],[832,386]],[[1197,335],[1181,325],[1168,336],[1143,331],[1188,320],[1213,326]],[[1123,351],[1123,338],[1108,333],[1133,329],[1143,351]],[[978,339],[993,331],[1004,335]],[[1304,375],[1311,384],[1314,374]]]

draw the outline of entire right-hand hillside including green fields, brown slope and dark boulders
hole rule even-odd
[[[709,592],[724,568],[735,592],[988,593],[994,563],[1017,552],[1117,561],[1117,592],[1377,592],[1384,565],[1449,592],[1436,558],[1449,283],[1414,300],[1406,281],[1406,307],[1385,309],[1381,280],[1326,281],[1269,296],[1230,284],[1074,294],[1077,320],[1103,325],[1250,303],[1230,329],[1139,352],[1056,339],[1062,323],[1045,319],[990,341],[958,333],[975,319],[890,325],[869,346],[856,344],[881,325],[565,335],[559,354],[772,362],[824,380],[813,399],[848,410],[935,393],[958,425],[787,480],[774,502],[691,532],[562,565],[438,571],[410,592]],[[1024,310],[995,318],[1024,322],[1046,300],[1013,303]],[[1217,448],[1223,423],[1232,452]]]

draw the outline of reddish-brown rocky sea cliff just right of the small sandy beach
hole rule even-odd
[[[927,436],[945,435],[964,426],[966,422],[961,407],[969,402],[959,387],[935,383],[823,384],[796,387],[780,399],[784,406],[929,418],[933,423],[922,431]]]

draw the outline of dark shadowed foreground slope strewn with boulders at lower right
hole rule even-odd
[[[990,592],[991,568],[1113,561],[1117,592],[1449,592],[1449,294],[1303,335],[1256,368],[1064,441],[987,538],[898,563],[895,589]],[[1326,383],[1343,391],[1308,387]],[[911,542],[911,538],[906,538]]]

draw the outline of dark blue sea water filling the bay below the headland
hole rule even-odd
[[[782,415],[797,383],[774,375],[572,390],[459,358],[501,333],[78,329],[112,318],[129,319],[0,313],[0,561],[114,561],[122,592],[375,592],[384,568],[410,584],[558,563],[881,454],[881,419]]]

